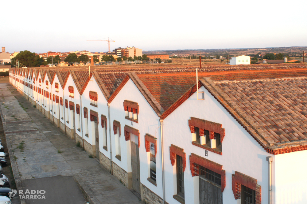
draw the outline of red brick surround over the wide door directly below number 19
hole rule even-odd
[[[221,175],[221,187],[223,192],[226,187],[226,171],[223,170],[223,165],[220,165],[218,163],[215,163],[192,153],[192,155],[190,156],[190,171],[192,173],[192,176],[199,176],[199,166],[203,166],[206,169],[209,169]]]

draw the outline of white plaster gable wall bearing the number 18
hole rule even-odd
[[[139,115],[138,115],[138,123],[132,122],[130,120],[125,119],[125,110],[123,106],[124,100],[129,100],[133,102],[137,102],[139,105]],[[140,176],[141,183],[146,187],[150,188],[155,194],[159,195],[162,198],[162,172],[161,172],[161,136],[160,129],[157,130],[157,134],[155,135],[155,130],[160,126],[159,117],[154,112],[152,107],[146,101],[144,96],[135,86],[133,81],[129,79],[124,87],[119,91],[114,100],[111,102],[111,125],[113,126],[113,120],[119,121],[121,124],[121,161],[115,158],[115,154],[112,154],[113,161],[119,165],[122,169],[127,172],[131,172],[131,155],[130,155],[130,141],[125,140],[125,132],[124,127],[128,125],[135,129],[138,129],[140,132]],[[131,125],[132,122],[132,125]],[[148,178],[148,159],[147,152],[145,149],[145,134],[148,133],[150,135],[156,136],[157,139],[157,157],[156,157],[156,169],[157,169],[157,187],[151,184]],[[113,127],[111,131],[112,135],[112,152],[115,152],[115,139]],[[131,137],[134,135],[131,134]],[[133,139],[132,139],[133,140]]]

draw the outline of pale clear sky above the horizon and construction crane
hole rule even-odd
[[[307,46],[307,1],[1,1],[6,51]]]

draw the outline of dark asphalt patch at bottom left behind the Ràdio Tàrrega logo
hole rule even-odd
[[[72,176],[53,176],[40,179],[22,180],[24,193],[28,189],[44,190],[45,194],[25,194],[44,195],[44,198],[25,199],[27,204],[85,204],[81,190]],[[43,193],[43,192],[42,192]],[[19,194],[21,195],[21,194]],[[16,195],[17,196],[17,195]]]

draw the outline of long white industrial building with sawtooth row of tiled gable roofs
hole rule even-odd
[[[10,68],[146,203],[306,203],[307,66]],[[289,176],[290,175],[290,176]],[[271,202],[270,202],[271,201]]]

